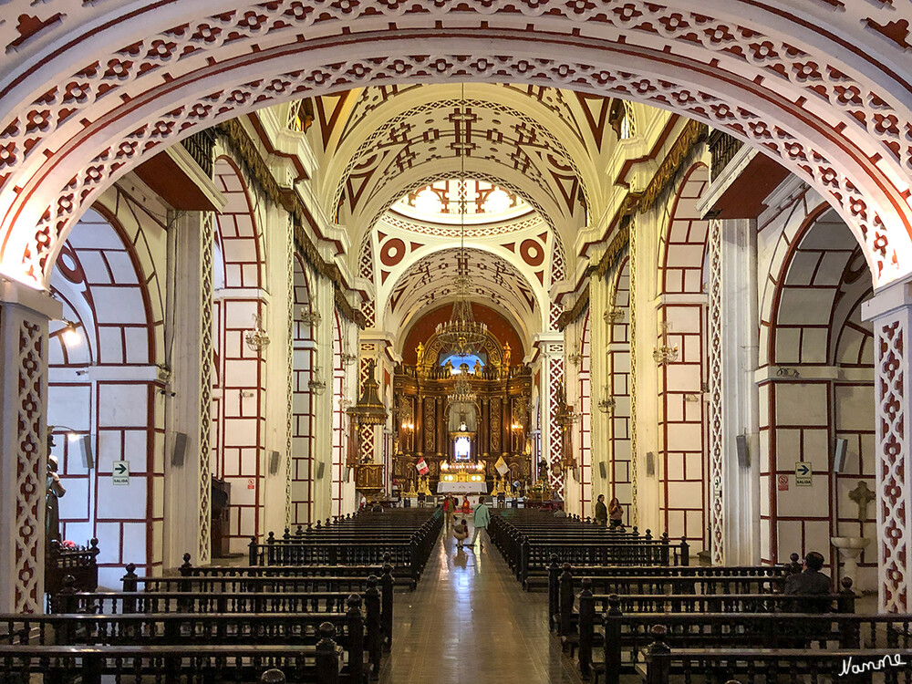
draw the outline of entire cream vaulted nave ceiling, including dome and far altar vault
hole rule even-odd
[[[314,105],[315,191],[350,243],[362,245],[349,264],[371,282],[376,325],[399,332],[422,308],[452,299],[465,223],[473,300],[531,343],[550,320],[555,282],[574,273],[565,245],[612,192],[596,171],[617,141],[611,100],[476,83],[362,88]],[[496,189],[520,210],[473,206],[456,220],[459,178],[476,183],[470,202]],[[425,206],[443,207],[436,217],[419,211],[421,192]]]

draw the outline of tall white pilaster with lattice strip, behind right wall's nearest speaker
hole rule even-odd
[[[710,544],[712,562],[760,562],[757,236],[752,221],[710,223]],[[750,464],[739,461],[744,436]]]

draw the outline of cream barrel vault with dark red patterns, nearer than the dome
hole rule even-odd
[[[407,192],[462,171],[517,194],[561,230],[582,227],[600,204],[596,157],[614,140],[610,98],[460,84],[321,100],[318,119],[334,122],[321,127],[323,192],[338,223],[367,229]]]

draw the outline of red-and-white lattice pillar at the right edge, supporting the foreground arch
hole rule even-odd
[[[912,285],[886,286],[862,305],[875,337],[877,606],[907,613],[912,598]]]

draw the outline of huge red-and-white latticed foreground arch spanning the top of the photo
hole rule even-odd
[[[0,272],[31,285],[47,285],[62,239],[100,192],[194,130],[289,99],[466,81],[617,95],[707,121],[822,192],[862,244],[876,285],[912,274],[907,3],[3,6]],[[554,166],[538,143],[518,139],[520,131],[486,116],[482,130],[503,132],[544,179],[552,169],[566,175],[548,182],[555,194],[572,185],[560,150]],[[504,149],[511,144],[493,137]],[[415,143],[430,153],[430,141]],[[397,151],[392,159],[406,157]],[[578,202],[568,195],[569,206]]]

